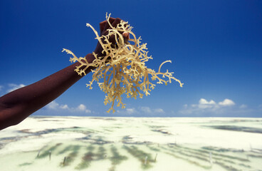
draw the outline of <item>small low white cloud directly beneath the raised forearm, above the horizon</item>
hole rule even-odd
[[[91,113],[91,110],[87,109],[85,105],[80,104],[78,105],[77,108],[69,108],[68,105],[60,105],[56,103],[56,101],[52,101],[48,105],[46,105],[46,108],[51,109],[51,110],[66,110],[71,113],[75,112],[84,112],[84,113]]]

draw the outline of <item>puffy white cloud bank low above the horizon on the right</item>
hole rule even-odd
[[[206,100],[201,98],[198,104],[192,105],[184,105],[182,110],[179,110],[181,114],[202,114],[202,113],[216,113],[221,114],[224,113],[225,109],[228,109],[231,106],[236,105],[233,100],[225,98],[223,101],[216,103],[214,100]],[[246,107],[246,105],[241,105],[242,107]]]

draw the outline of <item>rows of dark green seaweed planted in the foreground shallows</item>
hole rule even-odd
[[[149,152],[150,151],[150,152]],[[127,154],[125,154],[127,152]],[[52,154],[52,157],[51,157]],[[189,165],[194,165],[202,170],[211,170],[217,165],[224,170],[251,170],[254,158],[262,159],[262,154],[252,151],[219,149],[217,147],[191,147],[190,145],[121,145],[107,144],[98,145],[98,143],[64,145],[56,143],[50,146],[44,146],[38,151],[34,160],[56,160],[60,158],[58,165],[60,167],[73,167],[75,170],[88,170],[95,162],[110,161],[108,171],[117,170],[118,165],[125,164],[130,157],[140,163],[142,170],[148,170],[157,165],[158,161],[164,158],[158,155],[169,155],[174,160],[184,160]],[[27,161],[19,164],[19,167],[33,165],[34,161]]]

